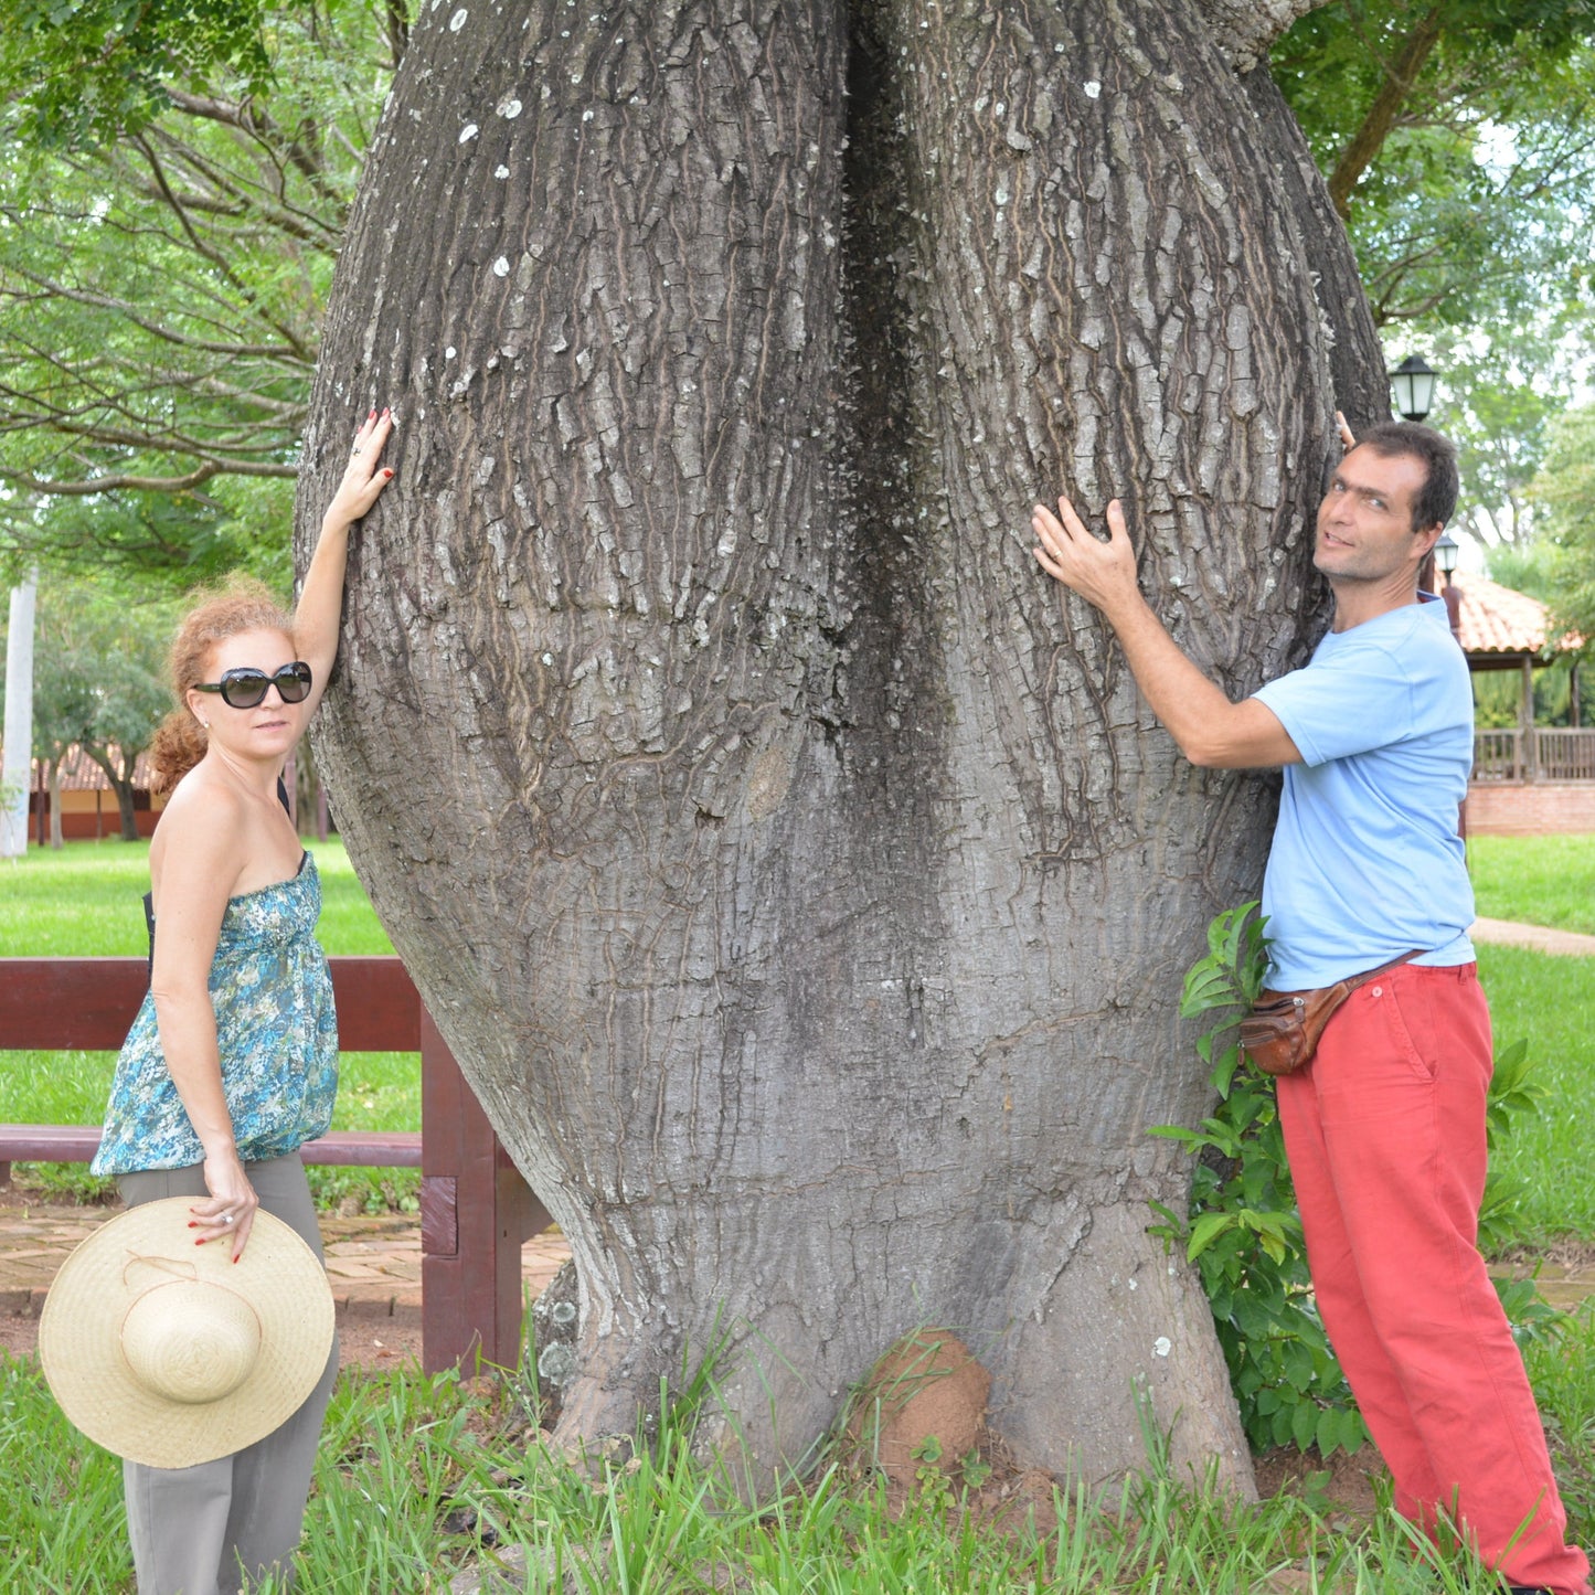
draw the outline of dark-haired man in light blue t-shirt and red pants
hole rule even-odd
[[[1136,683],[1193,762],[1284,766],[1263,885],[1270,986],[1303,990],[1418,957],[1359,987],[1314,1061],[1279,1080],[1319,1311],[1396,1506],[1459,1518],[1512,1590],[1582,1595],[1523,1362],[1475,1244],[1490,1014],[1467,941],[1456,807],[1472,691],[1418,568],[1456,507],[1456,456],[1428,427],[1372,427],[1317,512],[1335,619],[1305,670],[1241,703],[1193,665],[1136,584],[1118,501],[1110,538],[1037,506],[1042,568],[1096,605]]]

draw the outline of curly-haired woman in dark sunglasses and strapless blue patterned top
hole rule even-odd
[[[349,530],[392,478],[392,427],[359,429],[292,619],[254,585],[195,609],[172,643],[179,708],[156,734],[150,994],[116,1064],[96,1174],[129,1206],[193,1196],[196,1246],[236,1262],[263,1206],[321,1255],[298,1147],[327,1129],[338,1037],[314,939],[316,863],[279,799],[338,648]],[[338,1353],[300,1410],[198,1467],[123,1463],[140,1595],[220,1595],[287,1576]]]

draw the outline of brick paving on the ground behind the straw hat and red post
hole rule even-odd
[[[0,1313],[37,1317],[67,1254],[118,1209],[0,1207]],[[321,1219],[338,1314],[386,1317],[421,1305],[421,1227],[410,1214]],[[538,1295],[571,1255],[557,1230],[520,1249],[522,1279]]]

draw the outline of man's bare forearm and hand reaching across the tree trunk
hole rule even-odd
[[[1118,635],[1136,686],[1169,729],[1191,764],[1214,769],[1262,769],[1300,764],[1302,754],[1279,718],[1257,699],[1231,703],[1169,636],[1164,624],[1140,597],[1136,550],[1124,526],[1124,509],[1107,507],[1109,541],[1094,538],[1067,498],[1057,515],[1035,506],[1030,528],[1037,563],[1088,603],[1096,605]]]

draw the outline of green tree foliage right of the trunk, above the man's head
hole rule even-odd
[[[1595,354],[1595,217],[1568,199],[1595,190],[1595,5],[1337,0],[1271,67],[1325,179],[1340,171],[1388,362],[1420,351],[1440,372],[1458,530],[1531,536],[1549,423]]]

